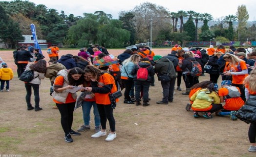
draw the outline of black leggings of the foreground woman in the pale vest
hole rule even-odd
[[[61,124],[65,132],[65,135],[69,134],[71,131],[73,123],[73,112],[75,109],[76,102],[71,103],[56,103],[60,113],[61,113]]]

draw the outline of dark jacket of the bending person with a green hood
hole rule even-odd
[[[170,70],[168,72],[169,65]],[[161,59],[156,61],[154,70],[157,75],[164,75],[169,73],[169,76],[171,78],[177,78],[173,63],[166,57],[162,57]]]

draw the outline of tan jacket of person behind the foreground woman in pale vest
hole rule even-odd
[[[66,69],[66,67],[61,63],[51,64],[47,67],[45,78],[50,78],[51,82],[54,82],[58,72],[63,69]]]

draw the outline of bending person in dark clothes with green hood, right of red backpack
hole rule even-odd
[[[163,88],[163,99],[162,101],[157,101],[157,104],[168,104],[168,102],[173,101],[173,91],[175,86],[175,80],[177,78],[173,63],[161,56],[154,56],[155,73],[157,74],[158,80],[161,81]]]

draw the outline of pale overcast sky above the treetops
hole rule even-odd
[[[11,0],[5,0],[11,1]],[[245,4],[249,21],[256,20],[256,0],[28,0],[35,4],[44,4],[47,8],[57,9],[66,15],[83,16],[83,13],[104,11],[118,19],[120,11],[129,11],[143,2],[161,5],[170,12],[193,10],[198,13],[210,13],[214,19],[235,15],[238,5]]]

